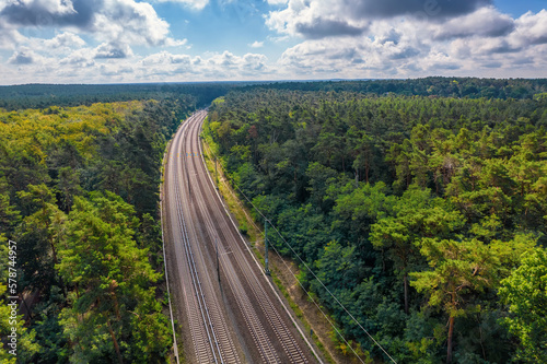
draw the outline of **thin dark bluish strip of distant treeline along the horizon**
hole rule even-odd
[[[474,79],[426,78],[416,80],[316,81],[316,82],[211,82],[142,84],[25,84],[0,86],[0,108],[44,108],[113,103],[133,99],[161,99],[167,95],[191,95],[194,106],[205,107],[231,90],[249,92],[257,89],[360,94],[468,97],[534,98],[546,97],[547,79]]]

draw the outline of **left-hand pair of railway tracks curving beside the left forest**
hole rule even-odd
[[[176,267],[175,280],[179,283],[178,297],[183,301],[191,347],[186,344],[186,356],[191,363],[241,363],[219,291],[212,284],[201,247],[188,223],[190,212],[189,171],[184,161],[189,145],[185,141],[187,128],[194,120],[205,117],[196,113],[177,131],[167,154],[165,168],[165,225],[170,249],[170,266]],[[174,262],[174,265],[173,265]]]

